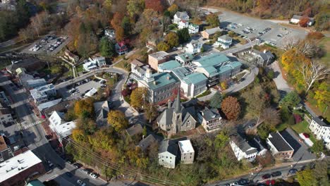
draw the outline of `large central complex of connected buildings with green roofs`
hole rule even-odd
[[[207,87],[238,74],[242,66],[242,63],[231,61],[224,54],[194,58],[186,53],[173,60],[170,58],[165,51],[158,51],[149,54],[149,66],[138,60],[131,63],[131,72],[138,87],[147,88],[148,101],[152,103],[166,101],[173,96],[174,91],[182,92],[183,97],[196,97],[207,90]],[[157,73],[152,73],[152,70]]]

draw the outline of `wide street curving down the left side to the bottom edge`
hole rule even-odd
[[[28,106],[27,94],[23,92],[23,89],[14,90],[9,85],[10,83],[11,81],[8,80],[8,77],[3,74],[0,75],[0,86],[4,87],[4,89],[6,89],[7,94],[11,96],[11,100],[13,101],[13,104],[11,106],[16,111],[18,118],[20,118],[20,125],[22,125],[22,128],[24,128],[25,125],[37,122],[39,118],[35,116],[35,113],[33,113],[30,109],[30,106]],[[16,128],[16,130],[18,129],[20,129],[20,127]],[[78,171],[77,168],[71,166],[71,164],[66,163],[59,156],[59,154],[57,154],[56,151],[54,151],[54,149],[50,146],[49,142],[44,137],[45,135],[46,134],[44,132],[44,129],[40,124],[33,125],[32,127],[23,130],[24,143],[29,149],[31,149],[40,159],[42,159],[42,161],[49,160],[52,163],[63,167],[63,169],[60,169],[58,167],[50,169],[45,163],[46,170],[50,171],[49,173],[42,175],[39,178],[40,180],[44,181],[49,180],[51,178],[55,178],[55,180],[60,180],[61,185],[75,185],[78,179],[83,180],[87,183],[87,185],[132,185],[136,183],[125,181],[111,182],[109,184],[106,184],[104,180],[90,178],[89,175]],[[68,178],[68,176],[65,175],[66,172],[73,173],[73,178]]]

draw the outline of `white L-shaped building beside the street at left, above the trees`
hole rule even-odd
[[[49,128],[56,133],[59,142],[61,142],[61,139],[64,137],[71,135],[72,130],[75,129],[75,121],[66,122],[63,120],[63,117],[64,113],[58,111],[54,111],[49,117]]]

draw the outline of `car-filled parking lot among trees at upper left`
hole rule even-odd
[[[56,37],[55,35],[47,35],[30,46],[27,46],[21,53],[55,55],[59,53],[68,42],[70,42],[70,39],[66,36]]]

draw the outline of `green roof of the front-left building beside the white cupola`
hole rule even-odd
[[[178,79],[174,75],[171,75],[171,73],[155,73],[152,77],[154,77],[154,81],[148,82],[150,89],[159,89],[178,82]],[[154,82],[156,82],[156,84]]]

